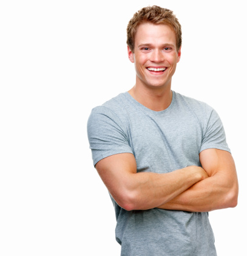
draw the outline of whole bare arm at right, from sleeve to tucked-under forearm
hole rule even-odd
[[[201,151],[200,162],[209,178],[197,182],[158,208],[209,212],[237,206],[239,185],[231,153],[209,148]]]

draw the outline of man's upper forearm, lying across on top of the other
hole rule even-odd
[[[189,187],[206,178],[200,167],[186,167],[171,173],[134,173],[129,178],[128,189],[132,198],[125,208],[146,210],[166,204]],[[205,173],[205,174],[203,174]]]

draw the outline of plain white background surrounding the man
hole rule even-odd
[[[120,255],[86,123],[134,85],[127,22],[154,4],[182,25],[172,89],[217,110],[237,166],[239,205],[209,214],[218,256],[247,255],[243,3],[1,1],[0,255]]]

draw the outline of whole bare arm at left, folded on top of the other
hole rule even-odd
[[[110,195],[126,210],[158,207],[208,178],[206,171],[197,166],[170,173],[137,173],[135,157],[131,153],[105,157],[95,167]]]

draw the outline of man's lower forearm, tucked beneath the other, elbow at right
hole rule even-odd
[[[192,185],[171,201],[158,208],[167,210],[186,210],[189,212],[209,212],[237,205],[238,186],[229,182],[223,173],[204,179]]]

